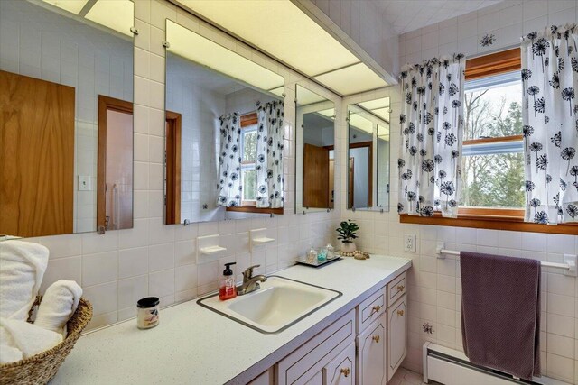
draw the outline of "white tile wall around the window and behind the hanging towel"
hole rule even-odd
[[[575,1],[505,1],[471,14],[407,32],[400,36],[400,65],[417,63],[438,55],[462,51],[477,55],[487,50],[513,47],[522,33],[544,29],[550,23],[575,23]],[[480,38],[491,32],[497,42],[489,49],[480,47]],[[397,91],[393,92],[395,95]],[[370,98],[367,96],[367,98]],[[392,102],[393,113],[400,113],[399,96]],[[347,102],[346,98],[346,102]],[[392,119],[392,159],[399,145],[398,125]],[[391,204],[396,207],[397,170],[391,170]],[[344,184],[341,191],[344,192]],[[562,261],[565,253],[578,252],[578,236],[499,232],[495,230],[400,224],[396,211],[351,213],[342,206],[342,218],[355,218],[361,227],[360,245],[364,250],[401,255],[414,261],[409,273],[409,350],[404,365],[422,370],[421,347],[433,341],[461,350],[460,264],[455,258],[435,258],[438,241],[452,250],[499,253],[540,261]],[[417,236],[417,252],[403,252],[403,235]],[[542,367],[549,377],[578,383],[578,284],[561,270],[545,270],[542,283]],[[433,325],[433,335],[422,325]]]

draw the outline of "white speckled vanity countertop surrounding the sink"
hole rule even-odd
[[[162,309],[153,329],[139,330],[130,319],[80,337],[51,384],[247,383],[410,266],[411,260],[372,255],[278,271],[343,295],[276,335],[220,316],[196,299]]]

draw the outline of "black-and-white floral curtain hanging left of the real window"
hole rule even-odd
[[[402,69],[400,214],[458,215],[464,69],[462,54]]]

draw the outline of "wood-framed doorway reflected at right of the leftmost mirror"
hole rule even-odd
[[[133,227],[133,104],[98,96],[98,231]]]

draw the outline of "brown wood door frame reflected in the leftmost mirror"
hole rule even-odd
[[[133,104],[126,100],[98,95],[97,151],[97,232],[106,227],[107,217],[107,111],[133,115]]]

